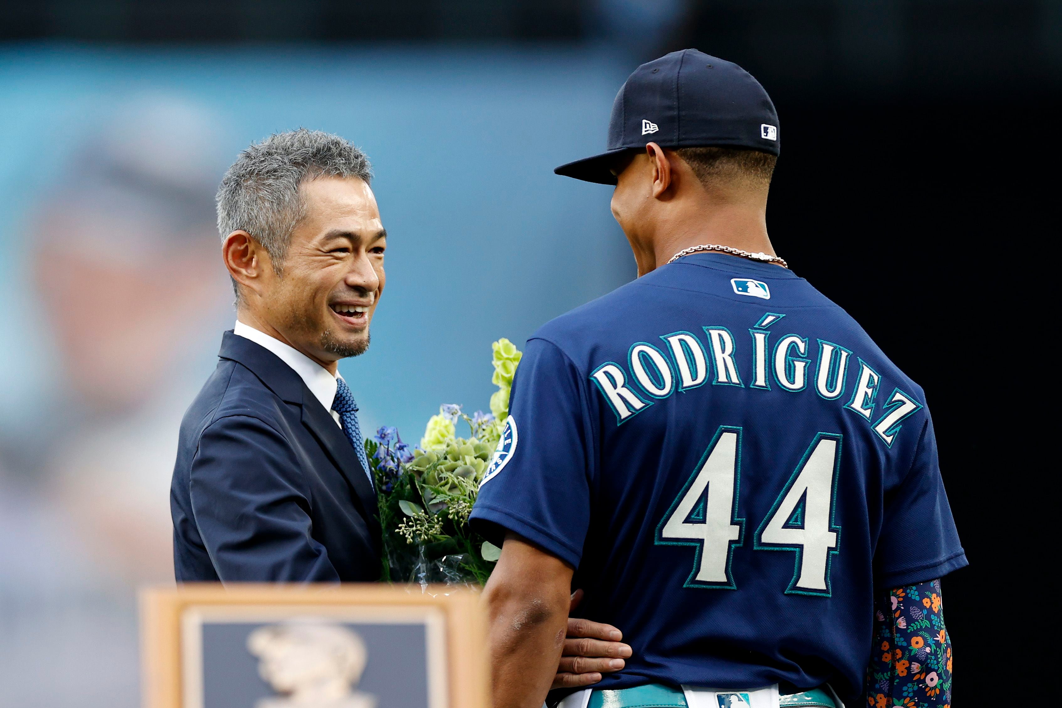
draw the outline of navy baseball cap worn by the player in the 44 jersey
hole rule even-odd
[[[778,154],[778,115],[748,71],[696,49],[643,64],[619,89],[609,120],[607,150],[568,162],[556,174],[615,185],[616,157],[662,148],[746,148]]]

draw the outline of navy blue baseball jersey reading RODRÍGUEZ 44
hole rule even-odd
[[[922,390],[792,272],[665,265],[527,343],[473,523],[576,568],[647,683],[858,693],[873,591],[966,564]]]

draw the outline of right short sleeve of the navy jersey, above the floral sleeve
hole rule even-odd
[[[944,493],[937,438],[927,417],[910,470],[886,493],[874,585],[894,588],[939,579],[967,565]]]

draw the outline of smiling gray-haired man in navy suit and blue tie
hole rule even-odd
[[[185,414],[173,470],[177,582],[375,581],[376,490],[337,373],[369,347],[387,231],[369,160],[326,133],[253,144],[218,191],[237,323]],[[554,686],[622,668],[619,632],[568,627]]]

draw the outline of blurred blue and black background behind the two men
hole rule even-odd
[[[633,277],[610,189],[551,171],[685,47],[767,87],[777,252],[926,390],[973,705],[1035,585],[998,585],[1045,484],[1037,369],[1000,369],[1039,363],[1055,299],[1057,0],[0,0],[0,706],[139,703],[135,590],[172,582],[177,426],[235,320],[212,198],[239,150],[307,126],[373,160],[388,290],[341,372],[412,442],[487,408],[493,340]]]

